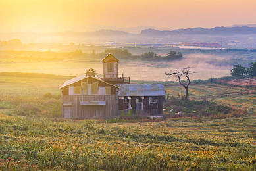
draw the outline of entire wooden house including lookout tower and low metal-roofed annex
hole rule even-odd
[[[111,118],[128,111],[163,116],[163,85],[130,84],[130,77],[118,74],[118,59],[113,55],[102,62],[103,77],[91,68],[61,85],[63,118]]]

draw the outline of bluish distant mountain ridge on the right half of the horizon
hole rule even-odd
[[[146,29],[141,31],[143,36],[168,36],[175,34],[207,34],[207,35],[230,35],[230,34],[256,34],[255,27],[215,27],[215,28],[186,28],[172,31]]]

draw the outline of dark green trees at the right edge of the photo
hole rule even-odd
[[[252,62],[249,68],[245,68],[240,64],[236,64],[233,66],[231,70],[231,76],[236,78],[249,78],[256,76],[256,62]]]

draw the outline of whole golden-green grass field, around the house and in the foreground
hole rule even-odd
[[[253,112],[135,123],[64,120],[57,95],[65,80],[0,74],[0,170],[256,170]],[[190,97],[255,109],[253,93],[226,96],[239,89],[192,85]],[[166,92],[177,96],[180,87]]]

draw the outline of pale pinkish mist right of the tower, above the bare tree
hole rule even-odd
[[[166,72],[171,72],[190,66],[191,70],[195,72],[191,76],[192,80],[205,80],[230,74],[232,66],[215,64],[215,62],[221,61],[223,58],[215,55],[190,54],[185,55],[184,59],[179,61],[120,62],[120,70],[123,70],[125,74],[128,74],[134,80],[166,81],[165,70]]]

